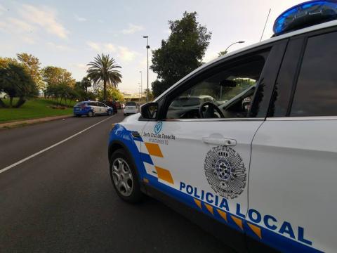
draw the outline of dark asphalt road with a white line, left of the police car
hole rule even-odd
[[[114,117],[67,118],[0,131],[0,252],[229,252],[212,235],[148,198],[129,205],[110,182]]]

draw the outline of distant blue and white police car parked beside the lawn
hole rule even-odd
[[[113,109],[101,102],[83,101],[74,106],[74,116],[112,115]]]

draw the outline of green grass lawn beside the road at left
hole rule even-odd
[[[2,99],[6,104],[9,104],[9,99]],[[13,101],[13,104],[15,100]],[[50,117],[60,115],[72,115],[72,107],[76,102],[67,101],[68,108],[53,109],[51,106],[56,105],[55,100],[44,98],[32,98],[20,108],[0,108],[0,123],[21,120],[21,119],[36,119],[39,117]]]

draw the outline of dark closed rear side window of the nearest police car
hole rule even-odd
[[[291,117],[337,116],[337,32],[308,39]]]

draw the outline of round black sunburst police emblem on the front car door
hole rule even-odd
[[[233,199],[244,191],[246,168],[232,148],[220,145],[209,150],[204,169],[211,188],[220,196]]]

